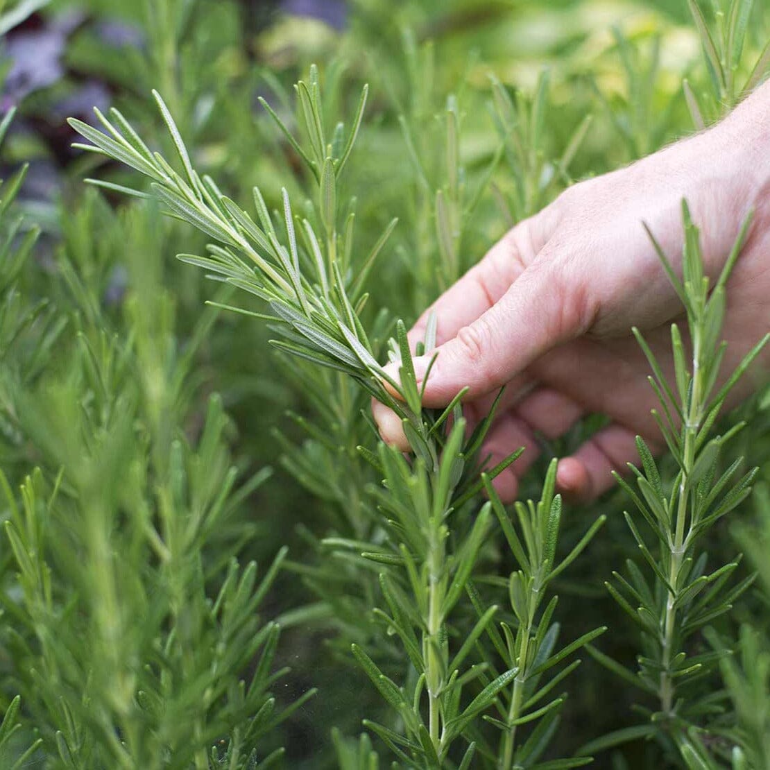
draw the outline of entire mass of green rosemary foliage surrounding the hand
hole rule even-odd
[[[762,4],[610,30],[577,0],[357,0],[341,32],[78,5],[0,128],[0,765],[770,766],[770,400],[721,415],[712,377],[734,260],[703,283],[685,206],[674,382],[639,337],[669,452],[640,439],[591,506],[550,458],[601,415],[509,510],[519,453],[486,466],[461,393],[422,407],[397,320],[573,179],[728,111],[770,66]],[[120,111],[62,156],[35,126],[84,78]],[[30,199],[20,164],[52,159]]]

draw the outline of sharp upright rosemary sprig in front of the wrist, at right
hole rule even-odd
[[[691,357],[686,359],[685,342],[678,326],[671,326],[675,383],[669,383],[640,333],[637,339],[648,357],[654,377],[651,386],[661,402],[655,420],[678,465],[678,472],[666,484],[658,465],[644,440],[638,438],[641,470],[631,465],[638,491],[617,476],[647,524],[657,545],[648,546],[638,521],[626,513],[626,521],[644,558],[644,571],[629,560],[628,577],[614,573],[615,584],[608,590],[620,607],[633,619],[641,634],[639,669],[634,674],[604,654],[594,657],[611,668],[625,681],[634,682],[648,695],[657,698],[658,706],[644,711],[648,725],[620,731],[584,748],[594,752],[639,735],[670,739],[689,765],[699,752],[693,748],[691,736],[708,724],[705,718],[714,696],[698,692],[698,684],[713,673],[721,649],[693,652],[693,640],[719,615],[728,612],[732,603],[752,583],[753,576],[737,584],[731,582],[738,559],[728,564],[709,565],[703,547],[705,535],[725,515],[735,511],[751,492],[756,469],[736,477],[741,459],[735,460],[723,473],[718,473],[720,453],[725,444],[742,429],[738,423],[724,434],[714,436],[715,422],[732,387],[770,340],[766,335],[748,353],[725,383],[718,387],[721,361],[726,343],[720,342],[721,323],[725,313],[725,286],[738,259],[750,218],[733,246],[713,289],[703,273],[698,243],[698,229],[692,223],[686,203],[683,205],[685,246],[682,253],[683,278],[679,280],[660,246],[661,263],[665,266],[675,290],[685,306]],[[652,236],[651,236],[652,237]]]

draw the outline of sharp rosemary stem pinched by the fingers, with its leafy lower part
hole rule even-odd
[[[466,440],[464,420],[461,419],[459,407],[461,393],[444,412],[423,413],[420,393],[411,369],[411,352],[402,323],[398,325],[397,340],[393,341],[390,351],[394,360],[402,362],[400,383],[387,377],[383,367],[377,363],[359,318],[360,308],[366,301],[360,286],[360,279],[365,273],[351,276],[350,272],[346,271],[347,280],[343,279],[340,260],[336,256],[337,239],[333,222],[336,179],[353,148],[366,90],[362,95],[356,122],[346,139],[343,137],[342,141],[328,146],[325,145],[321,134],[318,106],[320,97],[315,70],[311,72],[310,83],[300,82],[297,91],[305,111],[308,131],[314,139],[316,156],[307,156],[299,144],[293,139],[291,141],[296,151],[303,154],[320,184],[320,222],[326,233],[326,249],[323,251],[320,239],[310,222],[303,219],[295,223],[285,191],[281,236],[287,246],[279,241],[273,219],[266,209],[259,189],[254,190],[259,216],[258,226],[243,209],[239,209],[219,192],[213,180],[206,177],[200,179],[192,169],[189,153],[182,143],[176,125],[158,95],[156,99],[179,152],[184,176],[175,172],[161,156],[149,152],[119,112],[112,113],[115,125],[97,113],[107,130],[106,133],[98,132],[79,121],[72,121],[72,125],[85,138],[94,142],[94,146],[102,152],[150,176],[154,180],[153,191],[172,215],[186,219],[223,244],[209,246],[209,256],[206,257],[182,255],[180,258],[224,276],[229,283],[266,300],[273,311],[273,315],[266,317],[273,323],[280,323],[276,329],[280,330],[283,340],[276,340],[274,343],[280,350],[345,373],[356,380],[367,393],[389,403],[402,418],[410,443],[418,455],[417,464],[413,468],[408,467],[396,450],[384,446],[380,447],[380,457],[370,457],[370,460],[381,466],[385,473],[390,495],[382,504],[391,516],[397,517],[399,539],[405,540],[403,544],[397,545],[403,554],[380,556],[370,553],[364,557],[387,563],[393,559],[403,561],[405,565],[411,564],[410,572],[415,571],[415,575],[418,567],[413,560],[419,558],[422,561],[422,564],[419,564],[422,577],[413,584],[413,591],[414,598],[423,608],[425,615],[422,618],[425,630],[421,658],[430,716],[427,728],[417,724],[414,719],[407,725],[413,729],[413,737],[420,741],[415,745],[420,747],[420,752],[425,752],[427,763],[432,766],[439,762],[439,757],[444,758],[447,755],[451,742],[460,735],[467,721],[486,708],[497,691],[504,686],[507,678],[510,678],[510,674],[502,675],[492,685],[487,686],[483,694],[477,696],[462,715],[457,715],[458,721],[454,728],[451,731],[443,731],[443,735],[440,733],[440,698],[448,698],[451,695],[455,708],[459,707],[460,688],[463,684],[463,681],[460,681],[450,690],[445,686],[447,650],[445,642],[442,641],[444,624],[447,614],[462,594],[465,581],[473,567],[477,549],[486,531],[488,512],[477,518],[470,539],[462,546],[458,545],[457,554],[446,552],[445,540],[448,531],[444,520],[450,511],[470,500],[482,486],[478,477],[478,454],[490,419],[485,420]],[[286,136],[291,135],[286,132]],[[92,146],[87,147],[94,149]],[[118,189],[104,182],[102,186]],[[127,192],[137,194],[134,190]],[[304,233],[305,249],[298,246],[296,226]],[[344,249],[342,254],[344,255]],[[244,257],[250,260],[252,266],[244,261]],[[307,276],[312,276],[312,279]],[[311,283],[311,280],[314,283]],[[356,303],[357,307],[354,307],[353,303]],[[263,316],[259,313],[254,315]],[[427,350],[430,350],[433,341],[426,340],[426,346]],[[383,380],[387,380],[403,400],[394,399],[384,387]],[[448,426],[452,416],[455,421],[450,429]],[[490,477],[500,473],[514,459],[515,455],[490,470]],[[346,544],[340,542],[340,545]],[[357,543],[353,545],[358,547]],[[389,591],[387,578],[383,577],[381,582],[387,597],[392,593]],[[391,611],[395,614],[393,608]],[[404,633],[402,640],[408,645],[411,640],[407,629],[404,629]],[[379,685],[383,675],[363,651],[358,648],[354,650],[367,672]],[[407,651],[413,650],[407,646]],[[414,658],[412,661],[417,662]],[[460,661],[457,662],[459,664]],[[390,680],[387,680],[387,683],[395,688]],[[419,685],[418,693],[422,686]],[[387,685],[383,687],[387,691]],[[395,691],[398,691],[397,688]],[[390,695],[391,698],[395,697],[393,693]],[[416,697],[419,701],[419,695]],[[390,702],[399,709],[406,705],[403,700]],[[445,712],[443,717],[446,725],[455,715]],[[472,753],[470,749],[468,761]]]

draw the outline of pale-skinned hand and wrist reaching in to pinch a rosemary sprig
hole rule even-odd
[[[727,285],[722,370],[729,373],[770,330],[770,82],[717,126],[567,189],[511,229],[410,331],[414,346],[436,313],[438,356],[425,406],[443,407],[468,386],[472,423],[507,386],[486,452],[494,464],[517,447],[527,450],[495,481],[504,500],[515,499],[518,479],[537,457],[535,432],[561,436],[587,413],[611,423],[560,461],[557,487],[568,497],[591,500],[611,487],[611,471],[624,472],[637,458],[636,435],[661,449],[649,366],[631,326],[673,373],[670,325],[681,318],[681,303],[643,223],[681,275],[683,198],[701,229],[712,285],[754,213]],[[414,360],[418,384],[427,363]],[[768,364],[765,350],[731,403],[765,381]],[[383,440],[408,450],[397,417],[381,403],[372,408]]]

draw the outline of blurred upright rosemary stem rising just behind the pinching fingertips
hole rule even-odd
[[[385,43],[380,40],[377,45]],[[378,67],[376,76],[398,111],[397,152],[408,160],[407,174],[404,178],[390,173],[380,183],[386,188],[397,186],[397,196],[407,203],[395,248],[413,276],[408,286],[413,301],[401,310],[411,315],[470,267],[470,236],[484,232],[480,203],[500,166],[503,142],[467,157],[463,146],[475,139],[467,127],[467,113],[475,109],[467,77],[461,75],[450,92],[444,92],[434,41],[421,41],[415,30],[407,28],[399,31],[393,45],[399,46],[400,55],[390,57],[384,72]],[[475,61],[473,53],[467,55],[467,70]],[[482,108],[483,103],[478,106]]]

